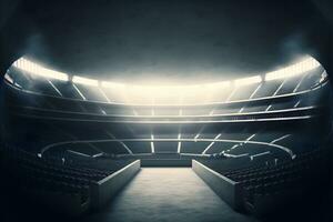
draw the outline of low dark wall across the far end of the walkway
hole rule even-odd
[[[176,159],[142,159],[141,167],[155,167],[155,168],[191,168],[191,160],[176,160]]]

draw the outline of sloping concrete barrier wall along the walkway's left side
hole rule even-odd
[[[90,185],[91,208],[98,210],[109,202],[140,171],[140,160]]]

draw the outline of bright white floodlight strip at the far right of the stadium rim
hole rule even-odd
[[[321,64],[312,57],[295,63],[293,65],[286,67],[281,70],[276,70],[273,72],[269,72],[265,74],[265,80],[271,81],[271,80],[276,80],[276,79],[285,79],[290,77],[295,77],[297,74],[302,74],[304,72],[311,71]]]

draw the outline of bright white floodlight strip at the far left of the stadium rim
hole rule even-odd
[[[63,72],[58,72],[54,70],[50,70],[47,69],[40,64],[37,64],[34,62],[31,62],[24,58],[20,58],[19,60],[17,60],[13,63],[13,67],[29,72],[30,74],[36,74],[36,75],[40,75],[40,77],[44,77],[44,78],[49,78],[49,79],[57,79],[57,80],[61,80],[61,81],[68,81],[69,77],[68,74],[63,73]]]

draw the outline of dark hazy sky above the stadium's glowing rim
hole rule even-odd
[[[304,0],[28,2],[30,58],[124,81],[262,73],[312,53],[320,21]]]

